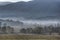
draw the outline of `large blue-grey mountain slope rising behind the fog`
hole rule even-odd
[[[60,16],[60,1],[56,0],[35,0],[30,2],[17,2],[0,6],[1,17],[24,17],[43,18]],[[44,18],[44,19],[45,19]]]

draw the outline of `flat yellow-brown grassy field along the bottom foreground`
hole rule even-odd
[[[2,34],[0,35],[0,40],[60,40],[60,36]]]

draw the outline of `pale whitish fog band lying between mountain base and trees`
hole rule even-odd
[[[7,17],[7,18],[0,18],[0,19],[3,19],[3,20],[13,20],[13,21],[20,21],[20,22],[23,22],[24,24],[27,24],[27,25],[30,25],[30,24],[39,24],[39,25],[54,25],[54,24],[57,24],[57,23],[60,23],[60,20],[37,20],[37,19],[25,19],[23,17],[21,18],[16,18],[16,17]]]

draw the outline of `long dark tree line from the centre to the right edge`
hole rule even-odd
[[[57,33],[60,35],[60,26],[36,26],[34,28],[22,28],[20,29],[21,33],[28,33],[28,34],[49,34],[51,35],[52,33]]]

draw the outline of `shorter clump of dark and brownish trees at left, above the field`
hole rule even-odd
[[[5,34],[5,33],[14,33],[14,28],[11,26],[7,26],[6,23],[4,23],[3,26],[1,26],[0,23],[0,34]]]

